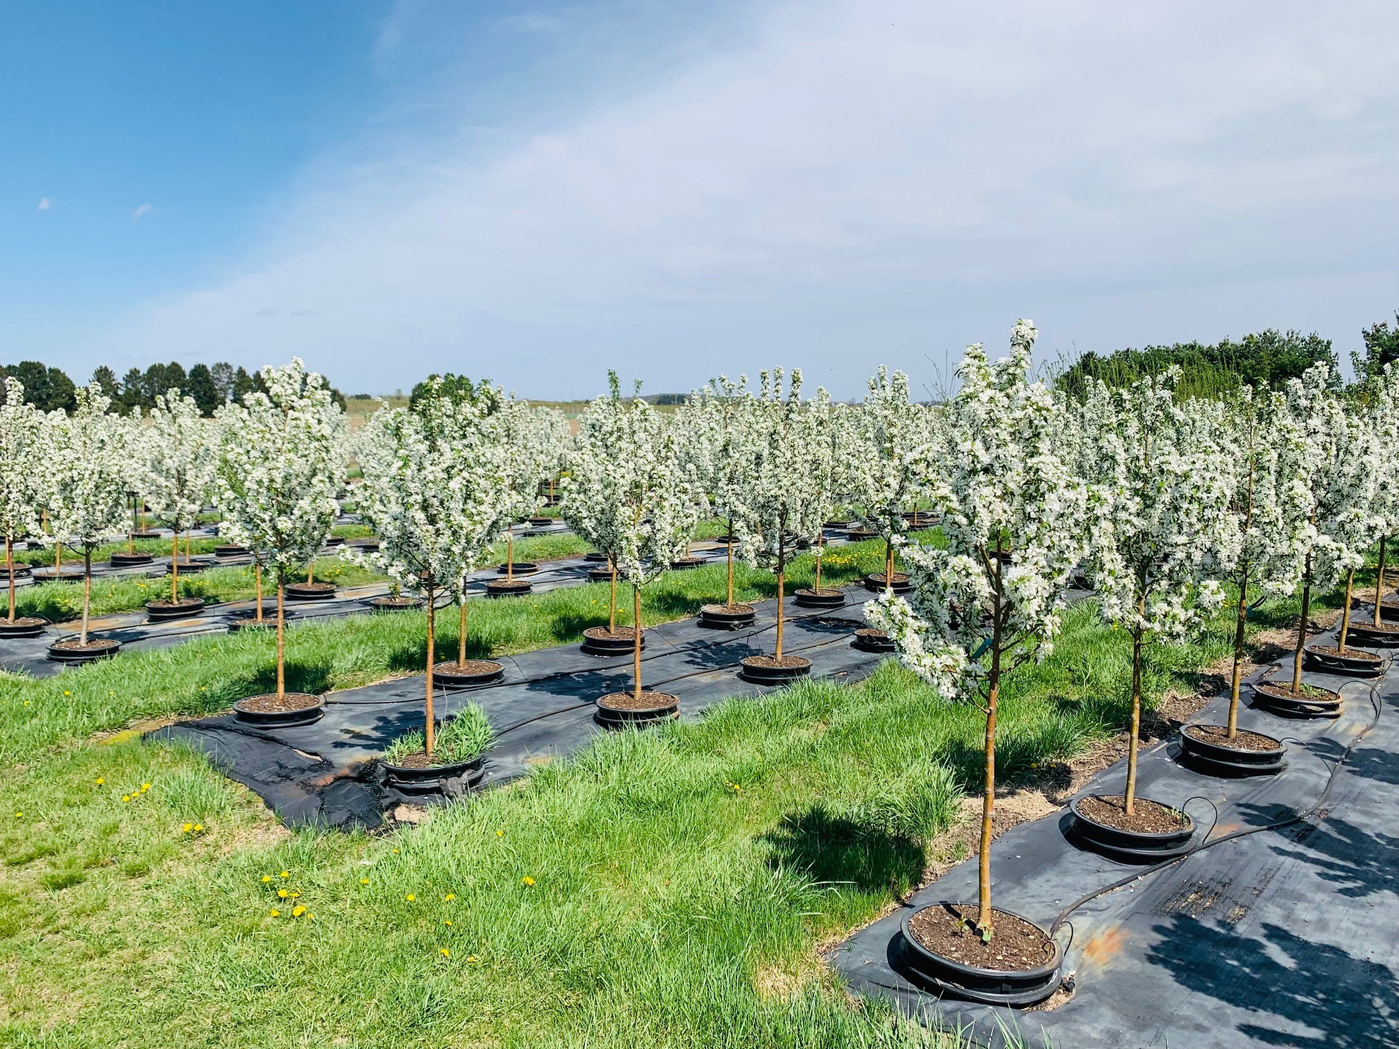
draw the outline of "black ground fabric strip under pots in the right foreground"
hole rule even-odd
[[[1177,740],[1140,755],[1142,797],[1186,807],[1198,835],[1241,836],[1144,876],[1149,869],[1074,848],[1065,838],[1067,810],[996,841],[995,904],[1046,927],[1076,901],[1140,876],[1067,916],[1059,940],[1072,933],[1063,972],[1073,994],[1058,1008],[937,999],[905,979],[902,913],[975,899],[975,857],[851,936],[827,961],[853,992],[886,997],[929,1027],[961,1027],[992,1046],[1399,1045],[1399,669],[1386,666],[1377,681],[1318,673],[1307,680],[1344,692],[1337,720],[1270,715],[1249,705],[1245,688],[1240,727],[1287,741],[1288,768],[1277,776],[1199,775],[1178,762]],[[1192,720],[1221,725],[1227,704],[1220,697]],[[1079,797],[1121,793],[1125,780],[1119,762]],[[1284,821],[1294,822],[1263,829]]]

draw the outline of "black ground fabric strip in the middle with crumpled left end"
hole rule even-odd
[[[757,601],[757,622],[744,631],[705,629],[694,620],[646,631],[642,656],[646,687],[680,697],[681,716],[694,716],[730,697],[768,690],[737,677],[739,660],[772,643],[775,601]],[[859,592],[841,610],[785,617],[783,648],[813,662],[813,673],[842,681],[869,674],[881,656],[851,646],[863,624]],[[595,701],[631,687],[631,655],[588,656],[578,645],[501,657],[498,684],[442,691],[438,716],[467,702],[480,704],[499,738],[487,755],[480,786],[504,783],[533,765],[572,754],[606,732],[595,720]],[[378,758],[385,747],[422,725],[422,677],[383,681],[327,697],[325,716],[299,727],[260,732],[220,715],[159,729],[154,738],[182,740],[201,748],[229,779],[267,801],[288,825],[378,827],[402,801],[421,803],[388,786]],[[446,794],[464,783],[446,783]]]

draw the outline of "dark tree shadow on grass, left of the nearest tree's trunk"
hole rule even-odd
[[[813,880],[872,891],[907,892],[923,873],[923,849],[911,838],[858,824],[816,804],[790,813],[761,841],[772,848],[771,864],[807,873]]]

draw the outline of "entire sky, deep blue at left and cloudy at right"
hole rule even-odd
[[[1399,308],[1399,7],[11,4],[0,358],[915,385]]]

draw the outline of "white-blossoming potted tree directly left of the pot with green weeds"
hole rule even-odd
[[[224,408],[215,497],[225,519],[221,530],[253,551],[277,587],[277,691],[234,704],[239,720],[269,727],[315,720],[325,706],[320,697],[287,691],[285,585],[334,523],[346,422],[326,380],[299,358],[269,365],[260,376],[266,392],[253,390],[242,404]]]

